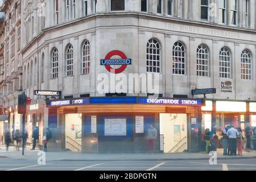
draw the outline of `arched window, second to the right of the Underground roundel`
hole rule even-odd
[[[185,75],[186,66],[186,51],[185,47],[180,42],[175,42],[173,45],[173,74]]]

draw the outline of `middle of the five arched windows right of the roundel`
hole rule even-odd
[[[197,76],[209,76],[209,53],[203,45],[197,48]]]

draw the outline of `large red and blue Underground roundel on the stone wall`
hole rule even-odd
[[[120,56],[122,59],[111,59],[115,55]],[[125,53],[117,50],[107,53],[105,59],[101,59],[101,65],[105,65],[107,71],[115,74],[125,71],[129,64],[131,64],[131,59],[127,59]],[[121,65],[121,67],[114,69],[111,65]]]

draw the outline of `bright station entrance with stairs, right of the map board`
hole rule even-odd
[[[187,150],[187,114],[160,114],[160,136],[163,152]]]

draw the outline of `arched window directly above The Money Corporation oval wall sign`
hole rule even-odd
[[[230,78],[230,53],[225,47],[219,52],[219,77]]]

